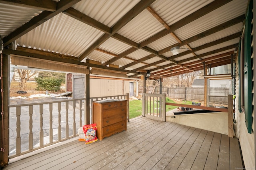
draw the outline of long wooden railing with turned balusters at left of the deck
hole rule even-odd
[[[9,105],[9,158],[77,136],[84,100]]]

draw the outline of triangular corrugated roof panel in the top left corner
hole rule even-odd
[[[41,11],[32,8],[0,4],[0,36],[8,36],[40,13]]]

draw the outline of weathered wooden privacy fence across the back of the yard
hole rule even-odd
[[[151,89],[152,87],[147,87],[146,91],[150,91]],[[142,93],[142,91],[140,91],[140,88],[139,93]],[[160,86],[157,86],[152,93],[159,94]],[[204,87],[162,87],[162,94],[166,94],[166,97],[169,97],[171,99],[204,101]],[[221,104],[228,104],[228,95],[228,87],[210,87],[210,89],[208,90],[208,101],[210,101],[210,103],[218,102]]]

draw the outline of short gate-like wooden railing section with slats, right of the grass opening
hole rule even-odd
[[[142,116],[166,121],[165,94],[143,93]]]

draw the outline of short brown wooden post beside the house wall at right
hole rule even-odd
[[[228,95],[228,137],[233,138],[233,96]]]

